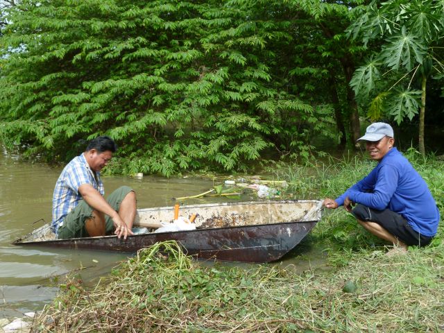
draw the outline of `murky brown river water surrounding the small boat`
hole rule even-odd
[[[45,164],[21,162],[5,151],[0,153],[0,318],[42,309],[57,293],[56,284],[51,282],[54,277],[78,272],[85,282],[94,284],[99,276],[107,274],[117,262],[128,257],[127,253],[11,245],[43,221],[51,221],[53,187],[61,171],[62,168],[51,169]],[[142,179],[103,177],[103,183],[105,196],[121,185],[133,187],[139,208],[174,205],[173,197],[200,194],[214,186],[211,180],[205,179],[147,176]],[[244,200],[254,199],[244,197]],[[187,203],[202,203],[202,200],[188,200]],[[325,263],[325,259],[319,259],[320,249],[310,248],[309,244],[301,249],[302,254],[311,259],[294,259],[300,254],[298,249],[296,254],[277,264],[295,265],[298,270],[305,270]]]

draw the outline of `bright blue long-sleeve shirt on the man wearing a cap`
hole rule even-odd
[[[425,180],[397,148],[392,148],[375,169],[335,201],[348,196],[375,210],[391,210],[404,217],[413,230],[428,237],[436,234],[439,210]]]

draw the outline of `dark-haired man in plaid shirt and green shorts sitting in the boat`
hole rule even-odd
[[[128,186],[119,187],[108,200],[100,171],[110,162],[117,146],[110,137],[96,137],[86,151],[63,169],[53,194],[51,228],[58,239],[133,234],[136,196]]]

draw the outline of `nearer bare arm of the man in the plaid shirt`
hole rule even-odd
[[[112,219],[112,222],[114,223],[114,228],[117,230],[117,236],[121,237],[123,236],[125,239],[128,235],[128,228],[121,228],[121,226],[126,227],[125,222],[121,219],[119,216],[119,213],[117,213],[109,203],[101,196],[99,191],[94,189],[92,185],[89,184],[83,184],[78,187],[78,192],[82,196],[83,200],[90,205],[94,210],[97,210],[99,212],[102,212],[103,214],[106,214],[110,216]]]

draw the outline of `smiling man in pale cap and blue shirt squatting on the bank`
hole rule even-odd
[[[438,228],[438,207],[425,181],[393,146],[393,129],[387,123],[373,123],[359,140],[366,141],[377,166],[336,200],[326,198],[323,205],[332,209],[343,205],[366,230],[402,250],[426,246]]]

